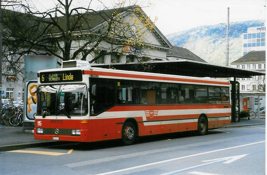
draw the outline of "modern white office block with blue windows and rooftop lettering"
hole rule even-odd
[[[247,29],[247,33],[241,35],[243,55],[250,51],[265,50],[265,32],[265,26],[250,27]]]

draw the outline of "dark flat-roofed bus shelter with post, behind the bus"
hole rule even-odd
[[[171,74],[194,77],[230,78],[232,87],[232,122],[239,121],[237,110],[240,111],[239,83],[236,78],[251,78],[252,76],[265,75],[263,72],[251,71],[240,68],[233,68],[223,65],[214,65],[207,62],[197,62],[194,60],[175,61],[148,61],[142,63],[113,63],[113,64],[91,64],[92,67],[116,68],[127,71],[151,72],[159,74]]]

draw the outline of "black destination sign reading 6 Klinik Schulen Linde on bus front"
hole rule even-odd
[[[82,71],[56,71],[56,72],[41,72],[41,83],[57,83],[57,82],[81,82]]]

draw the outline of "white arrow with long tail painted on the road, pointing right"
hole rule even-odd
[[[202,162],[209,162],[209,163],[204,163],[204,164],[201,164],[201,165],[191,166],[191,167],[188,167],[188,168],[172,171],[172,172],[161,174],[161,175],[169,175],[169,174],[180,173],[180,172],[183,172],[183,171],[187,171],[187,170],[190,170],[190,169],[207,166],[207,165],[214,164],[214,163],[217,163],[217,162],[231,163],[231,162],[233,162],[235,160],[238,160],[238,159],[240,159],[242,157],[245,157],[246,155],[248,155],[248,154],[243,154],[243,155],[238,155],[238,156],[230,156],[230,157],[222,157],[222,158],[212,159],[212,160],[203,160]],[[213,161],[213,162],[211,162],[211,161]],[[226,161],[226,162],[224,162],[224,161]]]

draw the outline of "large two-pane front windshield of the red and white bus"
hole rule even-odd
[[[87,86],[46,85],[38,88],[37,115],[86,115],[88,113]]]

